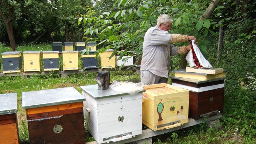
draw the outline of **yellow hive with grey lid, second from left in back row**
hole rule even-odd
[[[25,51],[23,52],[24,72],[40,71],[40,52]]]

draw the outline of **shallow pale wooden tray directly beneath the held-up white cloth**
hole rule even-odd
[[[216,75],[219,73],[223,73],[223,68],[196,68],[196,67],[187,67],[187,72],[193,73],[204,73],[204,74],[212,74]]]

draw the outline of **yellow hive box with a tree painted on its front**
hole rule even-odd
[[[170,85],[145,85],[142,123],[156,131],[188,123],[189,91]]]

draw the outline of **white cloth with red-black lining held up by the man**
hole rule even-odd
[[[197,47],[197,45],[194,43],[194,40],[191,40],[194,51],[196,53],[196,57],[200,63],[201,66],[203,66],[204,68],[212,68],[212,65],[210,64],[210,62],[208,60],[206,60],[202,54],[202,52],[199,50],[199,48]],[[188,52],[188,55],[186,56],[186,60],[189,63],[189,67],[195,67],[196,64],[194,63],[194,59],[193,59],[193,53],[192,53],[192,49],[190,49],[190,51]]]

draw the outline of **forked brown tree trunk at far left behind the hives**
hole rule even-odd
[[[2,10],[0,9],[0,15],[2,17],[2,19],[4,20],[4,25],[8,34],[8,38],[10,41],[10,45],[12,48],[12,51],[16,50],[16,43],[15,43],[15,38],[14,38],[14,33],[13,33],[13,26],[12,26],[12,18],[13,18],[13,9],[9,8],[8,9],[8,19],[5,17],[4,13],[2,12]]]

